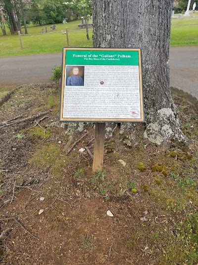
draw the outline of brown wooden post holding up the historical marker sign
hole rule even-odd
[[[105,122],[96,122],[93,172],[102,171],[104,156]]]

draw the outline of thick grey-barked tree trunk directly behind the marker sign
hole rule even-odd
[[[93,7],[95,48],[142,49],[144,137],[164,147],[171,139],[188,143],[169,87],[172,0],[93,0]],[[135,124],[121,124],[130,140],[136,131]]]

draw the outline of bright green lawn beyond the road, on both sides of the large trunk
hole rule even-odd
[[[91,22],[91,21],[90,21]],[[65,27],[68,28],[69,45],[71,47],[93,47],[93,30],[89,29],[90,40],[87,40],[86,31],[78,30],[78,24],[81,20],[72,21],[67,24],[56,24],[56,31],[49,34],[39,34],[42,29],[50,31],[49,25],[44,26],[28,26],[30,35],[22,35],[23,49],[21,49],[18,34],[11,35],[6,30],[7,35],[3,36],[0,32],[0,57],[40,54],[40,53],[55,53],[62,52],[62,47],[67,46],[66,35],[62,34]],[[24,33],[24,28],[22,28]],[[180,20],[178,15],[174,15],[171,26],[171,46],[190,46],[198,45],[198,14],[193,14],[193,17],[184,17]]]

